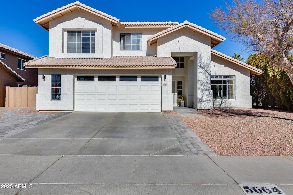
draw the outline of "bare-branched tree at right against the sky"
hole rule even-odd
[[[232,0],[215,8],[214,23],[250,51],[264,51],[293,84],[293,0]]]

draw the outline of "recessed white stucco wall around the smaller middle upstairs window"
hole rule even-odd
[[[149,46],[147,38],[166,28],[113,28],[113,56],[155,56],[156,44]],[[142,50],[120,51],[120,33],[142,32]]]

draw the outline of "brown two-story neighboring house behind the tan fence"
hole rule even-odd
[[[38,69],[23,64],[36,57],[0,43],[0,107],[5,106],[5,87],[38,86]]]

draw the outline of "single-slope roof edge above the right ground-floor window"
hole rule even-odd
[[[246,63],[244,63],[244,62],[241,62],[241,61],[239,61],[239,60],[236,60],[236,59],[234,59],[234,58],[232,58],[232,57],[230,57],[230,56],[227,56],[227,55],[225,55],[225,54],[222,54],[222,53],[220,53],[220,52],[218,52],[218,51],[216,51],[216,50],[213,50],[213,49],[212,49],[212,55],[218,56],[218,57],[220,57],[220,58],[222,58],[222,59],[228,60],[228,61],[231,62],[231,63],[234,63],[234,64],[236,64],[236,65],[239,65],[239,66],[242,66],[242,67],[244,67],[244,68],[249,69],[249,70],[250,70],[250,75],[251,75],[251,76],[261,75],[261,74],[264,73],[264,71],[262,71],[262,70],[260,70],[260,69],[258,69],[258,68],[255,68],[255,67],[253,67],[252,65],[248,65],[248,64],[246,64]]]

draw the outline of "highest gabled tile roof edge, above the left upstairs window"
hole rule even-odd
[[[40,17],[34,19],[34,22],[40,25],[41,27],[45,28],[47,31],[49,31],[49,22],[51,20],[54,20],[56,18],[59,18],[67,13],[73,12],[75,10],[85,10],[89,13],[93,13],[97,16],[100,16],[102,18],[105,18],[106,20],[109,20],[114,27],[120,26],[120,20],[106,14],[104,12],[101,12],[99,10],[96,10],[95,8],[92,8],[90,6],[86,6],[85,4],[81,4],[79,1],[75,1],[74,3],[68,4],[66,6],[63,6],[61,8],[58,8],[56,10],[50,11],[46,14],[41,15]]]

